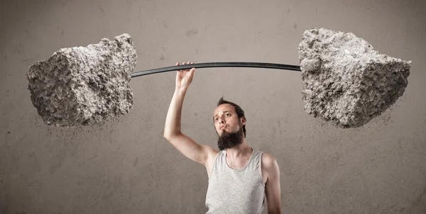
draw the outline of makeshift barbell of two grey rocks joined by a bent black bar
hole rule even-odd
[[[353,33],[305,30],[297,47],[300,65],[206,62],[133,72],[136,50],[127,33],[87,47],[61,48],[31,65],[26,78],[31,101],[47,125],[103,124],[129,113],[133,77],[181,69],[253,67],[301,72],[305,112],[339,128],[365,125],[403,95],[411,61],[374,50]]]

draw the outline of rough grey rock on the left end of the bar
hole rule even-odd
[[[87,47],[62,48],[26,74],[31,101],[48,125],[102,124],[133,106],[136,50],[129,34]]]

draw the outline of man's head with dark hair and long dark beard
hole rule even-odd
[[[213,114],[214,129],[219,139],[219,150],[240,145],[246,137],[246,116],[240,106],[222,98]]]

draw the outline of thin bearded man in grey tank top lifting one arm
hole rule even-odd
[[[192,68],[176,74],[164,137],[185,157],[206,167],[209,177],[207,213],[261,213],[264,196],[268,213],[281,213],[278,164],[271,154],[247,145],[246,117],[238,105],[221,98],[214,110],[219,150],[195,142],[180,130],[182,103],[194,72]]]

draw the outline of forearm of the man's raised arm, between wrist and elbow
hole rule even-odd
[[[182,106],[185,99],[186,89],[175,89],[172,101],[165,118],[164,137],[169,138],[181,133]]]

